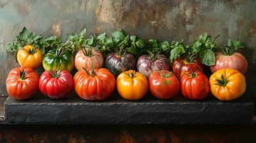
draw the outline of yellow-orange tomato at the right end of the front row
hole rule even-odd
[[[234,69],[221,69],[210,77],[211,93],[221,101],[230,101],[242,96],[246,89],[244,75]]]

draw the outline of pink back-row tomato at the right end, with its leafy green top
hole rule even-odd
[[[247,61],[242,54],[236,52],[237,49],[243,47],[245,47],[243,42],[229,39],[227,45],[219,47],[218,52],[215,52],[215,64],[210,66],[211,72],[231,68],[244,75],[248,69]]]

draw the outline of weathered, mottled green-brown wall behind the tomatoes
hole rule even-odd
[[[6,94],[8,72],[19,66],[4,45],[15,40],[22,27],[43,36],[65,37],[86,28],[90,34],[107,34],[123,28],[148,40],[181,40],[191,43],[203,32],[244,41],[239,50],[253,67],[256,54],[255,0],[1,0],[0,1],[0,95]],[[63,38],[65,40],[65,38]],[[37,72],[41,73],[42,68]]]

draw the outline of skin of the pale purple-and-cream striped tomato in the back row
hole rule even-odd
[[[137,61],[137,69],[148,78],[152,72],[170,70],[170,65],[163,54],[159,54],[156,61],[152,61],[148,55],[142,55]]]

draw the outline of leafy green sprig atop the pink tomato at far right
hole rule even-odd
[[[218,52],[222,52],[226,56],[231,56],[232,54],[234,54],[234,52],[236,52],[237,49],[244,47],[245,44],[243,42],[228,39],[227,45],[225,44],[223,46],[220,46],[216,50]]]

